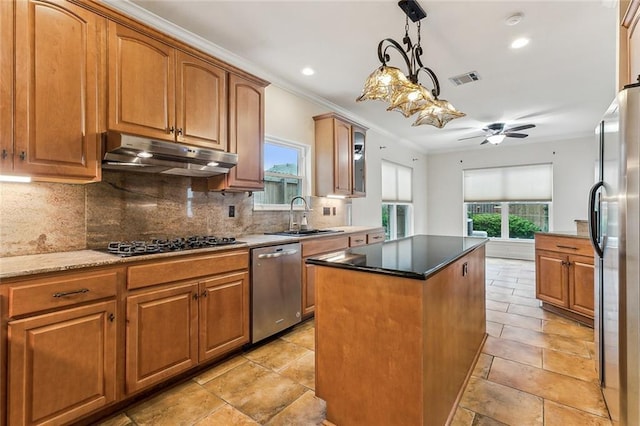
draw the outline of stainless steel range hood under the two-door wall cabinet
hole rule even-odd
[[[102,168],[179,176],[209,177],[229,173],[238,155],[107,132],[103,135]]]

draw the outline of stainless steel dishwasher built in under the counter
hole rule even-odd
[[[300,243],[251,250],[251,308],[251,343],[300,322]]]

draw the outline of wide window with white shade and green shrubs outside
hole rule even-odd
[[[533,239],[549,230],[551,164],[464,171],[467,235]]]

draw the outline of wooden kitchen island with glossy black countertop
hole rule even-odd
[[[486,337],[486,241],[417,235],[307,260],[329,422],[451,421]]]

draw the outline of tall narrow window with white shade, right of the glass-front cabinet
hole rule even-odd
[[[412,172],[409,167],[382,162],[382,226],[386,240],[413,233]]]

